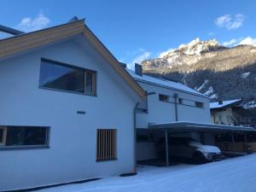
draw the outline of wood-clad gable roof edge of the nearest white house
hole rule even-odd
[[[16,35],[11,38],[1,39],[0,59],[79,34],[89,40],[90,44],[108,61],[110,67],[113,67],[113,70],[137,93],[137,96],[145,99],[145,91],[143,88],[119,65],[119,61],[117,61],[102,42],[96,38],[96,35],[90,31],[89,27],[84,25],[84,20],[74,20],[60,26],[53,26],[35,32]]]

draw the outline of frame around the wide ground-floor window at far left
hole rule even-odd
[[[8,133],[8,127],[41,127],[46,129],[46,135],[45,135],[45,143],[42,145],[10,145],[6,146],[6,141],[7,141],[7,133]],[[49,148],[49,136],[50,136],[50,127],[49,126],[32,126],[32,125],[0,125],[0,129],[4,128],[5,129],[5,140],[4,144],[0,144],[0,150],[12,150],[12,149],[33,149],[33,148]],[[36,129],[36,128],[35,128]]]

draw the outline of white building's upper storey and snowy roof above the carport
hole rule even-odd
[[[148,93],[145,102],[137,109],[137,129],[148,124],[189,121],[211,123],[209,98],[184,84],[167,79],[156,79],[126,69],[133,79]]]

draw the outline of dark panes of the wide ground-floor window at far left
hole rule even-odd
[[[2,147],[47,146],[49,127],[7,126],[0,128]]]

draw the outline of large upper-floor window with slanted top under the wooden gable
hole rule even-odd
[[[96,95],[96,72],[42,60],[39,86],[88,95]]]

